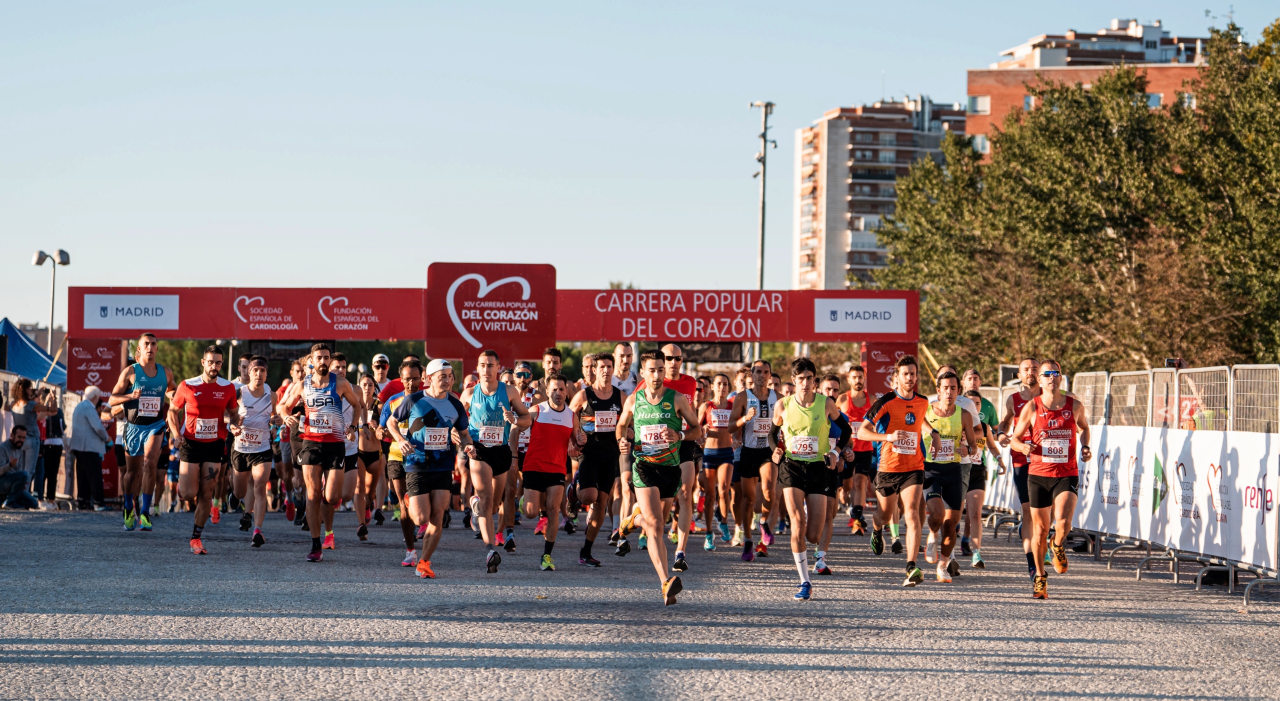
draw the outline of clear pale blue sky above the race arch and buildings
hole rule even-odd
[[[1247,38],[1277,13],[1235,3]],[[1224,8],[1129,3],[1206,35]],[[790,284],[796,128],[1114,3],[5,3],[0,315],[67,285],[417,287],[442,261],[550,262],[559,287]],[[884,90],[882,92],[882,81]],[[236,247],[234,249],[232,247]]]

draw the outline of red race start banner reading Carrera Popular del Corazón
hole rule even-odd
[[[142,331],[166,339],[421,339],[440,358],[484,348],[539,358],[557,340],[863,342],[901,354],[919,339],[919,293],[557,289],[550,265],[436,262],[425,288],[73,287],[67,319],[74,388],[88,372],[111,376],[102,354]]]

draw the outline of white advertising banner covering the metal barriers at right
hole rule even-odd
[[[1277,567],[1274,434],[1098,426],[1080,471],[1079,528]]]

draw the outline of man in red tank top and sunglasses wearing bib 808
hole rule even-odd
[[[1062,544],[1071,532],[1076,491],[1080,486],[1080,472],[1075,462],[1076,432],[1080,439],[1080,458],[1085,462],[1093,458],[1084,406],[1078,399],[1062,394],[1061,386],[1062,368],[1055,361],[1042,362],[1041,394],[1023,407],[1014,427],[1014,450],[1027,455],[1030,462],[1027,487],[1032,510],[1032,555],[1036,562],[1032,596],[1036,599],[1048,599],[1048,577],[1044,574],[1046,547],[1053,554],[1053,569],[1059,574],[1066,572],[1066,549]],[[1024,441],[1021,436],[1028,430],[1032,437]],[[1055,542],[1046,542],[1051,518],[1056,533]]]

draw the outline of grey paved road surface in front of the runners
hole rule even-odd
[[[399,567],[398,527],[302,556],[273,514],[261,550],[236,517],[189,555],[186,514],[151,533],[119,514],[0,512],[0,698],[1276,698],[1280,604],[1243,613],[1224,587],[1135,582],[1073,555],[1033,601],[1020,551],[902,590],[901,559],[838,536],[833,577],[791,601],[785,547],[742,563],[691,555],[680,604],[660,605],[644,553],[561,537],[536,569],[527,528],[486,576],[470,532],[445,532],[439,578]],[[600,554],[600,551],[605,554]],[[782,555],[782,556],[777,556]]]

